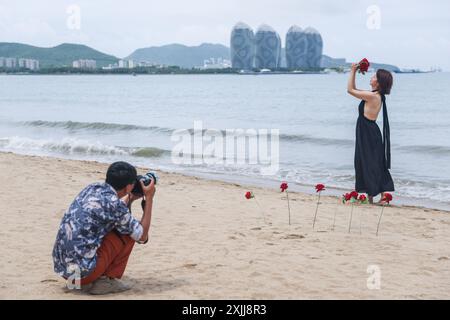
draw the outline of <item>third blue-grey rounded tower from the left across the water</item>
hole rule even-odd
[[[298,26],[289,28],[286,34],[286,67],[288,69],[307,69],[308,39]]]

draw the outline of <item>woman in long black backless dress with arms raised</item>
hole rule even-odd
[[[362,100],[356,124],[355,190],[367,193],[370,203],[373,203],[373,197],[381,193],[380,203],[383,203],[384,192],[394,191],[394,182],[389,173],[391,143],[385,97],[391,92],[393,77],[389,71],[379,69],[370,80],[372,91],[358,90],[355,86],[357,70],[358,65],[353,64],[347,89],[349,94]],[[376,123],[381,108],[383,134]]]

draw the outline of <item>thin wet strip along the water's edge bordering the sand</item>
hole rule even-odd
[[[58,155],[33,155],[33,154],[25,154],[25,153],[15,153],[15,152],[9,152],[9,151],[0,151],[0,155],[2,154],[14,154],[18,156],[25,156],[25,157],[40,157],[40,158],[48,158],[48,159],[58,159],[58,160],[68,160],[68,161],[86,161],[86,162],[93,162],[96,164],[107,164],[109,162],[103,162],[99,160],[88,160],[88,159],[77,159],[77,158],[64,158]],[[146,170],[148,168],[137,166],[140,169]],[[195,172],[192,174],[189,174],[187,172],[183,172],[182,170],[166,170],[166,169],[152,169],[155,171],[159,171],[165,174],[179,174],[184,177],[193,177],[193,178],[199,178],[206,181],[217,181],[217,182],[223,182],[223,183],[229,183],[232,185],[239,185],[241,187],[246,188],[262,188],[267,189],[271,191],[278,191],[279,184],[281,181],[276,180],[266,180],[258,177],[248,177],[248,176],[236,176],[236,178],[227,178],[228,176],[223,174],[214,174],[214,173],[202,173],[202,172]],[[315,196],[315,190],[314,185],[306,185],[306,184],[300,184],[296,182],[289,182],[289,190],[294,191],[297,193],[300,193],[304,196]],[[327,194],[325,196],[335,198],[337,201],[341,200],[341,196],[345,192],[349,192],[351,190],[345,190],[343,188],[336,188],[336,187],[327,187]],[[397,207],[405,207],[405,208],[416,208],[416,209],[426,209],[426,210],[435,210],[435,211],[444,211],[448,212],[450,214],[450,205],[447,203],[438,203],[436,205],[436,202],[433,202],[429,200],[423,200],[423,199],[416,199],[416,198],[406,198],[402,196],[397,196],[394,193],[394,206]],[[375,200],[376,201],[376,200]],[[422,202],[421,204],[417,204],[416,202]],[[435,206],[433,206],[435,204]]]

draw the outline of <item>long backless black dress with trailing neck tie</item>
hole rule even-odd
[[[359,105],[356,124],[355,148],[355,190],[376,196],[382,192],[394,191],[389,169],[391,168],[391,143],[386,97],[381,95],[383,104],[383,136],[376,121],[364,116],[365,101]]]

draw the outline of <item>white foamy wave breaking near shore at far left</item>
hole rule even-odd
[[[64,138],[61,140],[31,139],[26,137],[0,138],[0,148],[6,151],[40,151],[87,156],[134,156],[159,158],[170,155],[170,151],[154,147],[110,146],[99,142]]]

